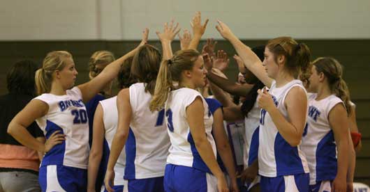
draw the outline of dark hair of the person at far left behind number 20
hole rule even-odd
[[[9,93],[36,95],[35,73],[38,65],[31,60],[18,61],[6,74]]]

